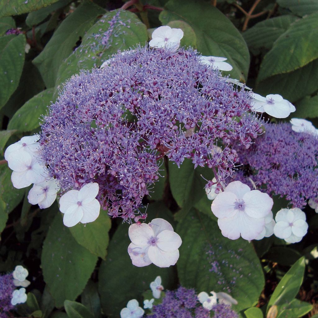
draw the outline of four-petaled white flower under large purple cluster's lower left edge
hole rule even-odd
[[[70,227],[77,223],[95,221],[100,212],[100,204],[95,199],[98,183],[87,183],[79,191],[70,190],[60,198],[60,211],[64,213],[63,223]]]

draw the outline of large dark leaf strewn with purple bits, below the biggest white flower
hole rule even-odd
[[[253,246],[243,239],[222,236],[211,218],[191,210],[178,224],[181,236],[178,276],[182,286],[197,292],[226,292],[242,310],[255,305],[264,287],[264,275]]]

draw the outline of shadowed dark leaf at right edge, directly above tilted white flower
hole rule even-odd
[[[274,75],[257,84],[255,93],[280,94],[294,102],[318,89],[318,59],[294,72]]]

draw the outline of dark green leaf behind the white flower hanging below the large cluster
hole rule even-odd
[[[164,218],[171,223],[172,215],[162,203],[149,204],[147,221]],[[131,243],[128,237],[129,225],[120,224],[109,243],[107,259],[100,265],[99,293],[104,314],[119,317],[122,308],[131,299],[142,301],[142,293],[149,288],[156,276],[162,278],[165,289],[174,286],[174,267],[159,268],[153,264],[136,267],[131,263],[127,248]]]

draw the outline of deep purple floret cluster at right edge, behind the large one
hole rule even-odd
[[[289,123],[267,124],[249,149],[237,149],[243,164],[234,179],[303,208],[318,195],[318,137],[292,130]]]

